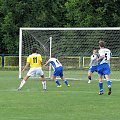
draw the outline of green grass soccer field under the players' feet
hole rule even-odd
[[[63,87],[57,88],[49,80],[44,92],[38,79],[29,79],[17,91],[18,72],[0,71],[0,120],[119,120],[119,79],[112,81],[110,96],[104,81],[105,94],[100,96],[97,80],[88,84],[87,73],[76,74],[84,74],[84,80],[69,80],[71,87],[62,83]],[[117,76],[120,78],[119,72]]]

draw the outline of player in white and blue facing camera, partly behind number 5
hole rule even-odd
[[[97,49],[93,48],[93,54],[91,55],[91,59],[90,59],[90,64],[89,64],[89,70],[88,70],[88,83],[91,83],[92,80],[92,73],[93,72],[97,72],[97,65],[98,62],[96,61],[98,58],[97,55]]]

